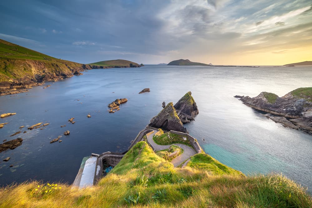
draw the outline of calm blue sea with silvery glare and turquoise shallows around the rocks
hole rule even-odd
[[[206,67],[147,65],[141,68],[96,69],[17,96],[0,97],[0,114],[16,115],[0,129],[0,142],[21,137],[23,144],[0,153],[0,185],[26,180],[72,183],[83,157],[123,152],[138,132],[162,109],[192,91],[199,114],[185,127],[202,148],[220,162],[245,174],[282,173],[312,187],[312,136],[284,128],[233,96],[262,91],[282,96],[311,87],[312,67]],[[149,87],[150,93],[138,94]],[[113,93],[114,92],[114,93]],[[115,114],[107,104],[127,98]],[[79,99],[79,101],[78,101]],[[87,114],[92,116],[87,118]],[[67,120],[75,117],[75,124]],[[13,137],[19,127],[50,123]],[[61,128],[61,125],[66,127]],[[70,135],[63,132],[69,130]],[[61,143],[50,140],[63,135]],[[205,141],[203,141],[205,139]],[[8,162],[2,162],[11,157]],[[14,167],[9,167],[9,165]]]

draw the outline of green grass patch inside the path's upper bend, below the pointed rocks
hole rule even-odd
[[[185,144],[185,145],[192,147],[190,141],[188,139],[184,140],[184,138],[185,138],[184,136],[173,134],[170,132],[153,137],[154,142],[159,145],[169,145],[169,144],[174,144],[174,143],[180,143],[180,144]]]

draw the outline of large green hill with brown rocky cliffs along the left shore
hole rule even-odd
[[[0,39],[0,91],[70,77],[83,65],[54,58]]]

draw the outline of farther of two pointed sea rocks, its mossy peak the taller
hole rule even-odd
[[[194,120],[198,114],[198,108],[191,92],[186,93],[179,99],[178,103],[174,105],[174,108],[182,123],[188,123],[190,120]]]

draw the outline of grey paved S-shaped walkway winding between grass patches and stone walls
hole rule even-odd
[[[153,148],[155,149],[155,151],[159,151],[159,150],[163,150],[163,149],[168,149],[171,145],[177,145],[180,148],[183,149],[183,153],[180,154],[178,157],[174,158],[171,163],[173,163],[174,167],[177,167],[178,165],[180,165],[183,161],[187,160],[188,158],[190,158],[191,156],[195,155],[195,151],[193,148],[185,145],[185,144],[170,144],[170,145],[159,145],[156,144],[154,142],[153,136],[155,135],[155,133],[157,133],[158,131],[154,130],[154,133],[150,134],[147,137],[147,140],[149,141],[149,143],[153,146]]]

